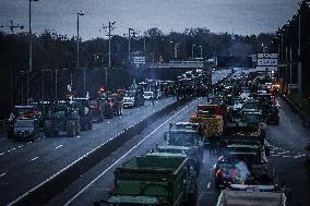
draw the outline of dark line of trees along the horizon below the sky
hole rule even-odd
[[[131,56],[145,56],[147,62],[169,62],[177,59],[212,58],[214,56],[249,56],[272,45],[272,34],[235,35],[212,33],[207,28],[186,28],[182,33],[164,34],[154,27],[131,37]],[[21,93],[17,74],[28,70],[28,33],[4,34],[0,32],[0,116],[15,102],[14,94]],[[193,47],[193,45],[195,45]],[[129,68],[129,38],[111,37],[111,66]],[[202,48],[202,50],[201,50]],[[271,47],[272,48],[272,47]],[[202,52],[201,52],[202,51]],[[108,39],[80,40],[80,68],[104,69],[108,66]],[[76,69],[76,37],[45,31],[33,35],[33,71]]]

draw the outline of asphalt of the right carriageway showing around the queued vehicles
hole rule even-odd
[[[156,144],[165,144],[164,132],[169,122],[188,121],[195,107],[205,102],[196,99],[148,125],[140,135],[117,149],[99,165],[68,186],[63,193],[52,198],[47,205],[93,205],[94,201],[107,198],[114,185],[114,169],[131,157],[144,155]],[[276,182],[285,182],[291,190],[288,206],[303,203],[310,205],[310,181],[305,168],[303,146],[310,141],[310,133],[302,120],[279,99],[282,106],[279,125],[269,125],[266,135],[271,148],[270,168]],[[214,206],[217,192],[214,187],[213,168],[220,154],[210,154],[205,148],[203,167],[199,175],[199,206]]]

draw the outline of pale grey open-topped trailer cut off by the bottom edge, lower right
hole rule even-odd
[[[285,206],[286,196],[273,185],[231,185],[222,191],[216,206]]]

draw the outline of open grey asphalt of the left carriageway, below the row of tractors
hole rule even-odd
[[[121,117],[105,119],[92,131],[76,137],[41,137],[35,142],[0,140],[0,205],[8,204],[62,168],[96,148],[110,137],[135,124],[153,112],[172,104],[172,98],[151,101],[145,106],[124,109]]]

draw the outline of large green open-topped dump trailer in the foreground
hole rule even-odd
[[[171,154],[133,157],[116,168],[112,193],[104,203],[115,206],[194,205],[188,192],[187,161],[188,158]]]

